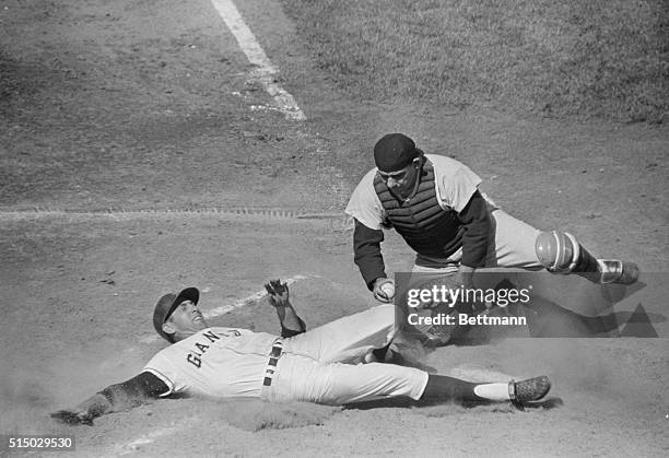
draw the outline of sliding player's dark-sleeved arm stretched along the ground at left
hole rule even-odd
[[[63,423],[93,425],[93,419],[106,413],[131,409],[157,398],[169,388],[150,372],[120,384],[109,385],[72,409],[59,410],[50,414]]]

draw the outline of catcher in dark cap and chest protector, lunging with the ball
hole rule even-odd
[[[395,296],[380,250],[389,227],[416,253],[413,272],[457,274],[465,287],[474,286],[473,273],[484,267],[544,268],[597,283],[632,284],[638,278],[633,262],[598,259],[570,233],[540,232],[508,215],[479,191],[481,178],[469,167],[424,154],[402,133],[384,136],[374,161],[345,212],[355,221],[355,263],[380,302]]]

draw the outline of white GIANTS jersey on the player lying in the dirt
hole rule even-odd
[[[207,328],[159,352],[144,367],[169,391],[215,397],[260,397],[277,336],[248,329]]]

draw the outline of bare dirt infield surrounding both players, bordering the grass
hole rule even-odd
[[[0,434],[74,434],[75,456],[666,456],[658,303],[659,339],[504,339],[426,361],[472,379],[550,375],[550,401],[526,412],[191,398],[94,427],[48,418],[163,348],[150,313],[167,291],[200,287],[206,313],[244,304],[212,324],[271,332],[258,295],[271,278],[295,279],[309,327],[374,305],[342,210],[388,131],[466,162],[512,214],[666,271],[666,127],[348,101],[274,2],[237,3],[305,122],[253,108],[271,99],[208,1],[0,5]],[[411,267],[395,234],[384,249],[390,271]]]

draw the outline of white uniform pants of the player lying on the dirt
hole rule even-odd
[[[263,398],[274,402],[344,404],[407,396],[419,399],[427,373],[394,364],[359,363],[397,333],[398,308],[380,305],[284,339],[283,353]]]

